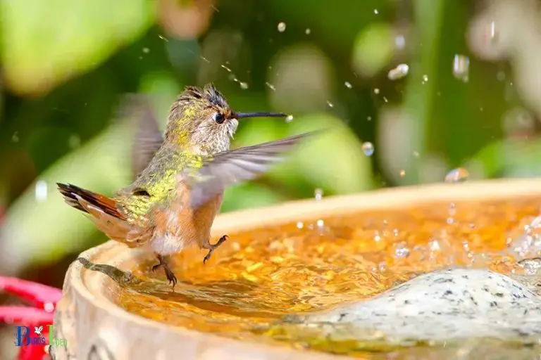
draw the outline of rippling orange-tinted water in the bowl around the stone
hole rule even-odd
[[[539,256],[537,250],[541,250],[537,244],[541,243],[541,227],[537,224],[541,221],[536,220],[540,207],[539,198],[436,203],[392,212],[363,212],[349,217],[294,219],[291,224],[275,229],[230,233],[228,243],[215,252],[206,266],[202,263],[204,254],[199,250],[188,250],[175,259],[174,271],[179,283],[174,293],[161,273],[151,272],[154,261],[149,259],[133,271],[142,281],[122,288],[116,302],[131,313],[149,319],[230,338],[354,356],[399,354],[399,349],[421,356],[428,345],[441,345],[442,339],[434,335],[437,341],[392,340],[380,330],[363,338],[366,333],[356,328],[349,333],[359,334],[360,338],[330,341],[329,330],[324,330],[323,325],[306,323],[310,316],[305,317],[304,322],[294,323],[292,314],[298,317],[299,314],[330,311],[344,304],[371,300],[413,278],[418,283],[408,285],[410,290],[416,286],[421,289],[427,286],[422,284],[423,281],[434,280],[423,280],[421,274],[449,266],[490,269],[518,278],[519,283],[508,284],[507,278],[497,281],[504,281],[504,287],[509,285],[512,290],[508,289],[509,297],[524,297],[530,301],[528,288],[535,290],[538,266],[535,260],[523,259]],[[480,276],[477,281],[485,281],[486,276],[492,278],[490,274],[481,271],[472,278]],[[438,280],[435,278],[434,282],[441,282]],[[523,284],[524,288],[521,288]],[[489,281],[485,285],[484,289],[489,293],[492,291],[490,286],[497,287],[501,283]],[[461,293],[467,293],[472,286],[476,288],[471,282],[453,286],[451,289],[456,288]],[[479,288],[483,287],[479,285]],[[475,289],[471,290],[474,293],[467,297],[477,296]],[[444,291],[445,295],[447,291]],[[425,292],[425,295],[432,296],[429,293]],[[407,296],[411,294],[396,296],[409,299]],[[491,296],[499,301],[495,308],[499,309],[506,301],[498,292]],[[531,296],[536,295],[531,293]],[[413,297],[417,295],[413,294]],[[422,298],[423,294],[418,297]],[[485,300],[492,307],[492,298]],[[404,304],[409,301],[404,300]],[[463,302],[461,299],[449,301]],[[533,298],[530,302],[535,301]],[[483,306],[481,300],[481,305],[473,303],[475,307]],[[426,306],[418,304],[416,311]],[[471,308],[455,311],[464,311],[468,319],[475,320],[478,309],[473,304],[468,306]],[[346,328],[356,326],[356,310],[348,311],[351,314],[347,316],[353,322],[345,324]],[[375,323],[372,318],[363,321]],[[340,333],[340,328],[337,331]],[[374,334],[378,336],[374,338]],[[525,345],[525,351],[538,351],[531,343],[534,340],[528,339],[530,342]],[[507,344],[505,339],[487,341],[485,345],[494,352],[502,352],[495,344]],[[515,339],[512,342],[513,351],[523,350],[524,344],[518,344]],[[442,352],[451,348],[440,347]],[[529,355],[528,352],[526,356]]]

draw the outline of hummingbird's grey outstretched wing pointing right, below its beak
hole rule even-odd
[[[255,179],[266,172],[276,162],[283,160],[283,155],[292,150],[301,140],[316,132],[290,136],[278,141],[247,146],[218,153],[204,158],[204,165],[197,174],[180,174],[189,179],[191,184],[190,205],[197,209],[218,195],[232,184]]]

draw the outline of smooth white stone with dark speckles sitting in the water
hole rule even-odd
[[[418,276],[370,300],[285,320],[309,328],[318,323],[327,335],[336,332],[342,339],[368,340],[378,334],[396,343],[531,341],[541,335],[541,297],[502,274],[449,269]]]

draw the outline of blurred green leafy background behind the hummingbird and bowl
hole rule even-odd
[[[224,212],[541,174],[541,1],[330,4],[0,1],[0,274],[61,287],[106,240],[55,183],[129,184],[126,93],[150,94],[162,128],[184,86],[207,82],[237,111],[293,115],[242,122],[235,147],[335,129],[228,189]]]

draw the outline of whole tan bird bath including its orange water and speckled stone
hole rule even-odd
[[[230,239],[206,266],[203,250],[174,259],[175,293],[162,271],[151,272],[152,257],[110,241],[70,266],[55,321],[68,347],[53,352],[532,359],[541,352],[530,259],[541,250],[540,210],[541,180],[514,179],[223,214],[213,238]]]

